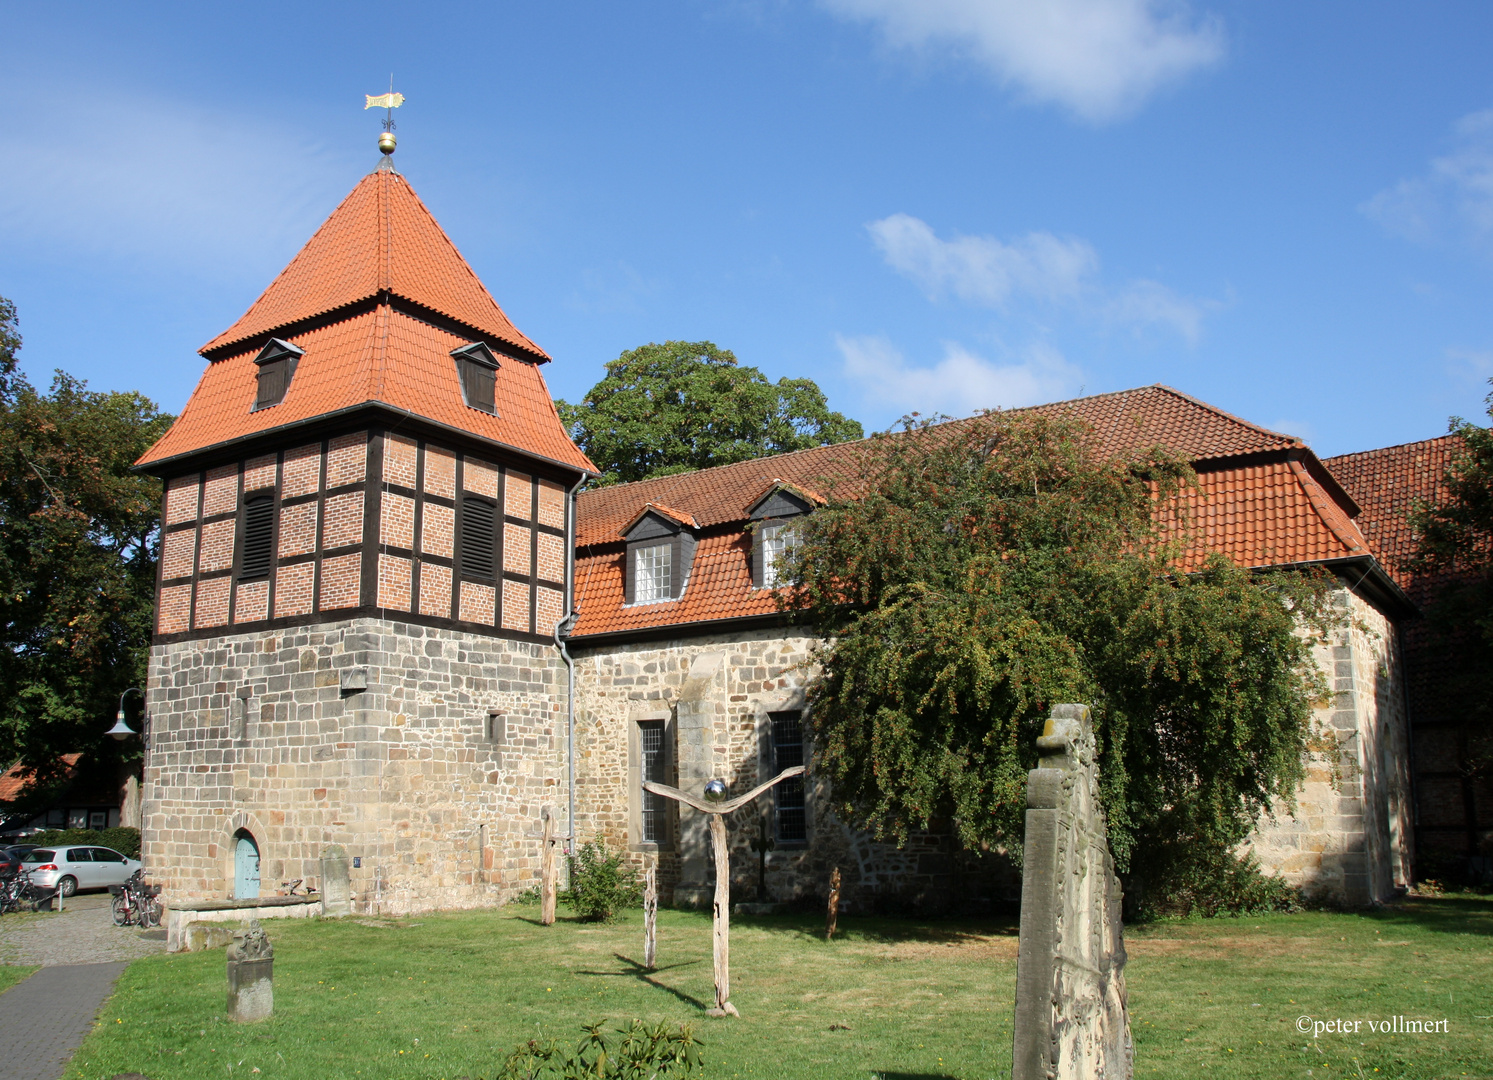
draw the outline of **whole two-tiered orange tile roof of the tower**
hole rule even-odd
[[[431,311],[472,330],[436,326],[440,320]],[[327,312],[342,317],[308,321]],[[284,400],[252,411],[254,357],[269,333],[305,356]],[[451,350],[479,336],[514,345],[533,360],[543,357],[487,294],[405,178],[373,173],[248,314],[205,347],[212,354],[208,370],[140,465],[381,403],[594,472],[560,423],[537,363],[500,356],[497,415],[467,408]]]

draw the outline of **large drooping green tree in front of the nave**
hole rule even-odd
[[[1326,684],[1297,633],[1330,581],[1221,556],[1179,572],[1190,466],[1105,457],[1070,418],[987,414],[878,436],[800,526],[782,600],[815,623],[815,765],[836,811],[906,840],[953,822],[1020,851],[1057,702],[1094,708],[1109,842],[1156,884],[1230,859],[1305,775]]]

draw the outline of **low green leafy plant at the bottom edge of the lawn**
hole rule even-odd
[[[690,1076],[700,1068],[700,1047],[690,1025],[633,1020],[614,1034],[606,1020],[584,1025],[575,1049],[557,1040],[520,1043],[503,1062],[497,1080],[654,1080]],[[621,1040],[617,1038],[621,1035]]]

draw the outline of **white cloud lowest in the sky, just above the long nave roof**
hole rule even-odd
[[[881,336],[836,336],[845,376],[860,388],[867,405],[902,414],[963,417],[976,409],[1018,408],[1072,396],[1081,373],[1062,353],[1032,345],[1015,363],[997,364],[956,342],[945,342],[944,359],[932,367],[908,363]]]

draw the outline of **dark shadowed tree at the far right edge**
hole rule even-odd
[[[1487,397],[1493,420],[1493,393]],[[1493,429],[1453,417],[1462,438],[1439,502],[1411,514],[1412,574],[1432,583],[1426,603],[1430,687],[1438,714],[1457,727],[1457,768],[1474,783],[1493,777]]]

